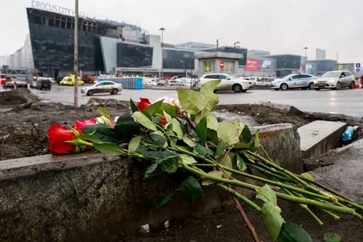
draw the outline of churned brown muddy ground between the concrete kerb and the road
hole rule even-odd
[[[128,102],[112,99],[92,98],[87,105],[77,110],[73,106],[54,102],[40,102],[40,99],[29,90],[11,90],[0,93],[0,104],[9,105],[15,100],[17,106],[12,110],[0,112],[0,160],[29,157],[48,154],[48,138],[46,130],[53,124],[74,125],[75,120],[98,117],[97,107],[110,109],[112,115],[121,115],[129,110]],[[1,108],[1,105],[0,105]],[[314,120],[329,120],[347,122],[349,125],[363,127],[363,119],[345,115],[302,112],[295,107],[281,109],[280,107],[261,105],[221,105],[217,110],[238,112],[250,115],[259,125],[291,123],[297,127]],[[357,132],[354,140],[362,137]],[[310,167],[311,169],[311,167]]]

